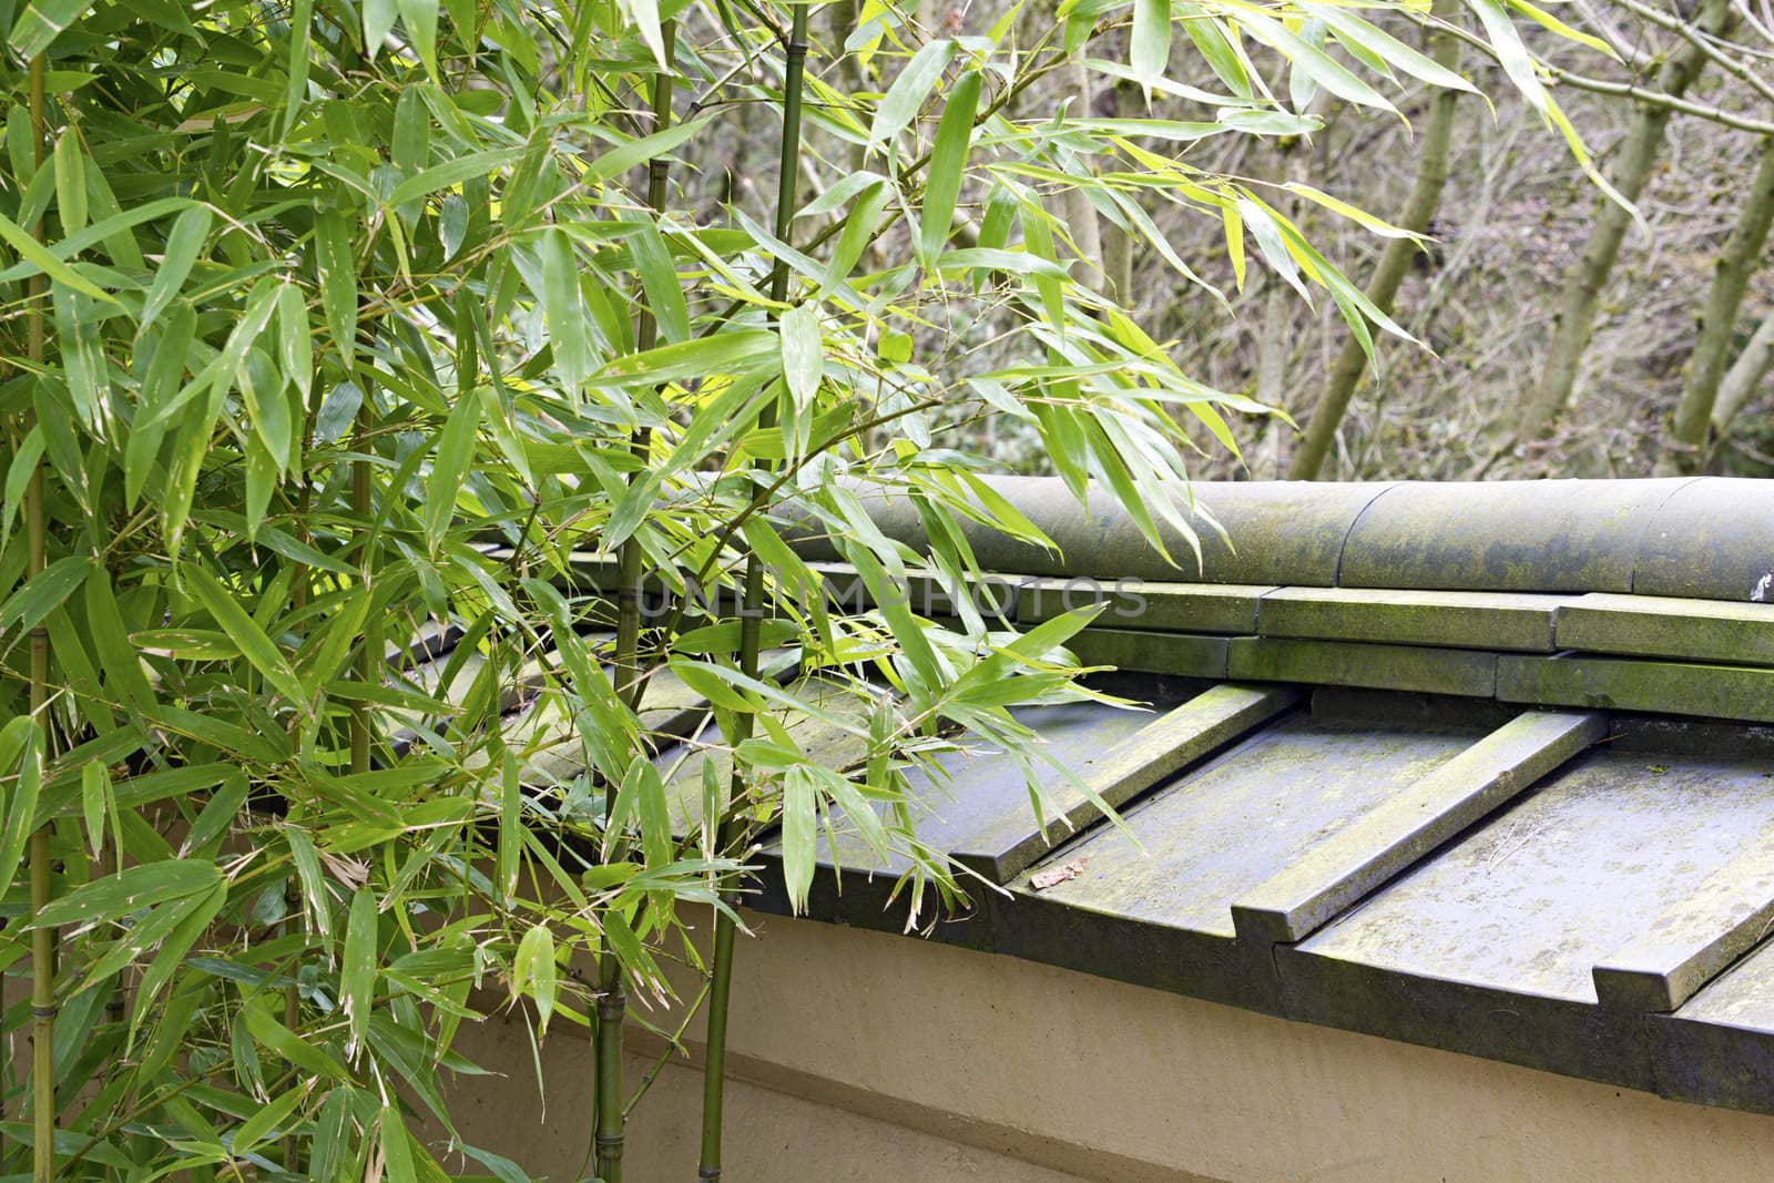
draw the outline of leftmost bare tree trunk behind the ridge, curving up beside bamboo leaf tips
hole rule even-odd
[[[1433,12],[1442,20],[1453,20],[1458,5],[1449,0],[1439,0]],[[1432,32],[1428,50],[1437,64],[1458,69],[1460,41],[1453,34]],[[1423,131],[1423,151],[1417,154],[1417,177],[1410,184],[1410,197],[1405,199],[1405,208],[1398,216],[1398,225],[1416,234],[1428,231],[1430,220],[1440,208],[1442,190],[1448,186],[1448,154],[1453,144],[1456,98],[1458,92],[1455,90],[1437,90],[1430,101],[1430,117]],[[1385,243],[1380,264],[1368,280],[1368,300],[1373,307],[1391,314],[1393,302],[1398,298],[1398,287],[1405,282],[1410,261],[1417,250],[1419,245],[1409,238],[1394,238]],[[1318,479],[1325,458],[1330,454],[1330,445],[1336,442],[1338,427],[1343,426],[1348,403],[1355,396],[1355,387],[1361,385],[1366,369],[1368,355],[1361,348],[1361,342],[1350,335],[1343,342],[1336,364],[1330,367],[1330,381],[1325,383],[1323,394],[1318,396],[1318,406],[1313,408],[1313,415],[1306,422],[1306,433],[1300,436],[1293,461],[1288,465],[1290,479]]]

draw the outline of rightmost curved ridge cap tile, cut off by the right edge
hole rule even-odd
[[[1675,490],[1643,534],[1632,591],[1774,603],[1774,481],[1699,477]]]

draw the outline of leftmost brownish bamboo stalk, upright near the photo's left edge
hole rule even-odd
[[[30,138],[37,168],[43,168],[43,144],[48,135],[43,110],[43,55],[30,60]],[[43,241],[43,222],[30,227],[30,236]],[[43,275],[30,280],[30,302],[25,312],[25,351],[32,372],[43,372],[44,325]],[[28,415],[28,413],[27,413]],[[27,578],[46,566],[46,529],[43,509],[43,461],[25,486]],[[37,624],[30,630],[30,717],[37,724],[37,754],[43,759],[50,748],[50,633]],[[50,830],[43,827],[30,835],[30,912],[37,915],[50,903]],[[32,1080],[32,1181],[48,1183],[55,1178],[55,929],[34,928],[30,933],[30,1080]]]

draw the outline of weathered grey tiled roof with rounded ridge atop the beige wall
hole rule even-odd
[[[944,757],[919,835],[990,889],[937,940],[1774,1112],[1774,482],[1199,484],[1199,566],[999,490],[1061,548],[972,537],[1009,612],[1107,598],[1075,647],[1155,713],[1018,711],[1119,827]],[[901,931],[899,871],[823,848],[812,915]]]

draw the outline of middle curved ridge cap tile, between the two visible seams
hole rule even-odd
[[[1412,591],[1630,592],[1646,525],[1687,482],[1405,482],[1355,523],[1339,582]]]

